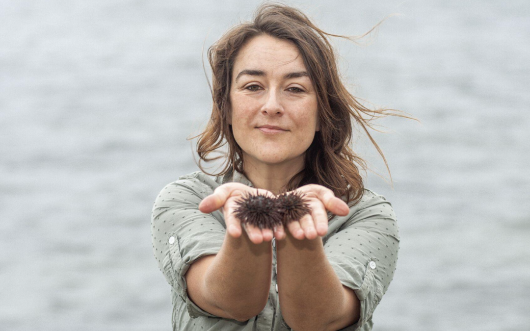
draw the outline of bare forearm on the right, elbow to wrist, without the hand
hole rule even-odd
[[[281,314],[295,330],[332,331],[356,323],[360,305],[324,254],[322,238],[298,240],[289,231],[277,241]]]

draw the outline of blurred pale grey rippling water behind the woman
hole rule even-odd
[[[352,92],[386,118],[357,150],[398,216],[374,330],[530,325],[530,3],[312,1]],[[196,171],[208,47],[257,1],[0,1],[0,329],[169,330],[152,203]],[[193,140],[193,145],[195,145]]]

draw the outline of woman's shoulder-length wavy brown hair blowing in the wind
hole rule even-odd
[[[234,169],[244,173],[242,149],[234,139],[232,126],[227,123],[231,116],[229,93],[232,69],[238,51],[246,42],[258,35],[270,35],[289,40],[298,48],[316,90],[320,119],[320,131],[315,132],[315,138],[305,153],[305,168],[290,179],[285,190],[291,191],[314,183],[328,187],[335,196],[346,196],[348,204],[356,204],[363,196],[364,189],[359,167],[365,172],[367,167],[366,162],[349,146],[352,136],[351,120],[366,132],[383,157],[390,174],[383,152],[367,130],[367,127],[374,129],[369,122],[386,115],[414,118],[398,114],[401,111],[394,109],[370,110],[361,105],[341,82],[335,53],[328,37],[346,38],[355,42],[384,20],[364,35],[347,37],[322,31],[296,8],[279,3],[264,3],[257,8],[251,22],[237,24],[225,32],[208,49],[208,61],[212,70],[210,91],[213,97],[210,120],[202,133],[188,138],[200,137],[197,153],[201,171],[213,176],[225,175]],[[369,115],[369,118],[364,118],[363,114]],[[227,153],[218,152],[222,155],[210,156],[210,153],[227,143]],[[211,162],[219,158],[226,158],[225,167],[219,173],[208,173],[201,166],[201,161]],[[392,181],[391,174],[390,178]]]

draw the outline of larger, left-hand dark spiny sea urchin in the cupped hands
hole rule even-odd
[[[276,208],[276,199],[266,194],[243,193],[243,199],[236,201],[235,217],[242,223],[249,223],[260,229],[273,229],[282,222],[282,214]]]

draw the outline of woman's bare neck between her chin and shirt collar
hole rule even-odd
[[[265,164],[248,155],[243,160],[245,176],[257,189],[273,194],[284,190],[294,175],[304,168],[304,155],[277,164]]]

